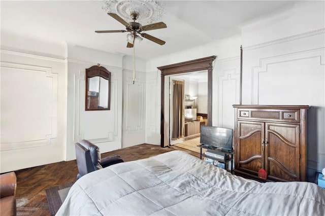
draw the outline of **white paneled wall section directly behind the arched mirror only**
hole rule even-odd
[[[74,143],[87,139],[101,153],[121,148],[122,55],[68,45],[67,160],[75,159]],[[111,72],[110,110],[85,111],[85,69],[100,64]]]

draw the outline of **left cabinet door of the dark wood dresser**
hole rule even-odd
[[[258,174],[262,167],[264,153],[261,142],[264,139],[263,122],[238,121],[238,147],[236,148],[236,169],[250,173]]]

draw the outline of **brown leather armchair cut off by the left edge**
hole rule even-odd
[[[0,215],[16,215],[16,187],[15,172],[0,175]]]

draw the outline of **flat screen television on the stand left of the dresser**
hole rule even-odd
[[[233,129],[201,126],[200,143],[221,150],[233,150]]]

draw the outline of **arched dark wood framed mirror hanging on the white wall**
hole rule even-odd
[[[86,111],[110,110],[111,72],[98,65],[86,69]]]

